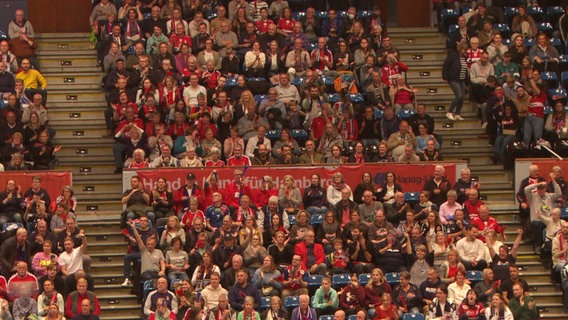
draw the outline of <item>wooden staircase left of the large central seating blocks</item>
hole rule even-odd
[[[50,124],[56,128],[58,170],[73,174],[78,219],[89,237],[91,274],[104,320],[138,318],[140,304],[122,288],[124,237],[118,229],[122,178],[113,174],[113,140],[103,139],[106,102],[102,73],[87,33],[40,34],[38,56],[49,85]]]

